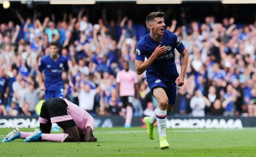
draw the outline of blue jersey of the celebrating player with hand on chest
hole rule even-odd
[[[148,59],[159,44],[160,43],[154,41],[150,37],[150,33],[146,34],[137,44],[135,52],[136,60],[145,61],[145,57]],[[153,63],[147,69],[147,75],[150,72],[154,72],[161,76],[175,79],[178,77],[178,72],[174,61],[174,49],[177,49],[179,53],[182,53],[185,47],[176,34],[167,30],[164,30],[163,33],[161,47],[163,45],[167,47],[167,52],[161,56],[158,56],[153,61]]]

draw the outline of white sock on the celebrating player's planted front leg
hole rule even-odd
[[[157,121],[158,133],[160,138],[166,136],[166,133],[165,133],[166,117],[167,117],[167,110],[161,110],[160,108],[156,110],[156,121]]]

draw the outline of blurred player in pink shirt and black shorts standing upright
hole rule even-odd
[[[132,103],[134,101],[135,90],[139,92],[138,75],[129,69],[129,62],[122,63],[123,70],[117,72],[117,91],[122,101],[122,112],[125,118],[124,128],[131,127]]]

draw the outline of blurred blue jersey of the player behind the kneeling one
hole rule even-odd
[[[41,59],[38,70],[45,72],[45,88],[49,91],[56,90],[57,87],[63,85],[61,74],[64,70],[69,70],[67,59],[63,56],[54,61],[49,55],[44,56]]]

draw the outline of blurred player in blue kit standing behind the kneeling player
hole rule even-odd
[[[71,74],[69,72],[68,61],[63,56],[59,56],[58,42],[50,43],[50,55],[44,56],[39,65],[39,86],[41,90],[45,90],[45,99],[51,97],[64,97],[64,87],[61,74],[63,69],[67,71],[69,85],[74,87],[71,81]],[[45,85],[43,84],[42,72],[45,72]]]

